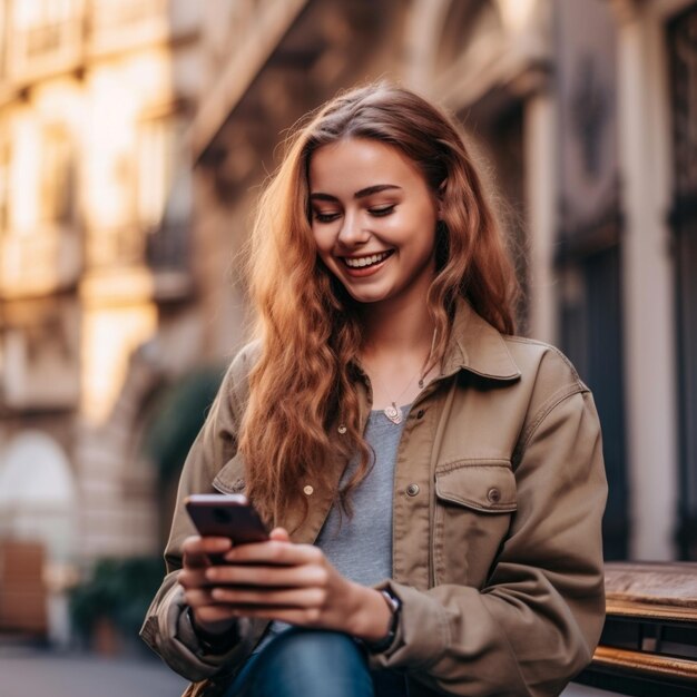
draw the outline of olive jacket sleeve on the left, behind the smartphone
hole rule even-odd
[[[239,620],[239,640],[225,655],[206,654],[193,630],[184,589],[177,582],[181,569],[181,543],[196,534],[185,508],[189,493],[210,493],[213,480],[220,468],[237,451],[237,434],[242,415],[240,394],[246,389],[246,352],[242,352],[228,369],[206,422],[194,442],[179,480],[169,541],[165,551],[167,576],[160,586],[140,630],[146,644],[161,656],[174,670],[190,680],[202,680],[235,665],[246,656],[252,641],[249,622]]]

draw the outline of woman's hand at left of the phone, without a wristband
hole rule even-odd
[[[233,548],[228,538],[192,536],[184,540],[183,565],[179,583],[184,587],[184,598],[192,608],[196,629],[207,635],[224,635],[235,625],[232,611],[212,597],[213,586],[206,579],[210,567],[210,554],[225,554]]]

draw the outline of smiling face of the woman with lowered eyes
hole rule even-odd
[[[438,202],[416,166],[379,140],[348,138],[310,163],[317,253],[361,303],[423,303],[435,273]]]

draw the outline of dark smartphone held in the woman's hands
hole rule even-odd
[[[235,544],[268,540],[266,526],[242,493],[194,493],[184,504],[202,537],[229,538]]]

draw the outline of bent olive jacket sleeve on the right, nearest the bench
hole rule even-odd
[[[580,383],[579,383],[580,384]],[[583,385],[558,395],[519,444],[518,510],[482,589],[387,582],[402,600],[374,666],[452,695],[558,695],[592,657],[605,595],[600,428]]]

